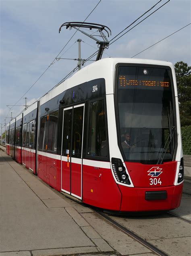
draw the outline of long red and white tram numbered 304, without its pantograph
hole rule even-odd
[[[94,62],[13,119],[6,150],[54,189],[91,206],[179,207],[184,164],[172,63]]]

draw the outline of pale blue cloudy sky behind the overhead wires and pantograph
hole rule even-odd
[[[108,26],[112,31],[108,40],[111,40],[159,1],[0,0],[0,127],[2,124],[2,132],[4,132],[3,124],[10,121],[11,112],[12,117],[16,117],[24,109],[24,106],[10,105],[25,105],[25,97],[27,105],[32,104],[77,66],[76,60],[55,60],[56,56],[78,58],[76,42],[78,39],[83,41],[81,58],[86,59],[98,50],[96,41],[79,31],[73,36],[75,29],[66,30],[62,27],[61,32],[58,33],[60,25],[65,22],[84,21],[91,13],[85,22]],[[168,0],[161,0],[134,25],[166,2]],[[190,24],[190,10],[190,0],[170,0],[145,21],[111,44],[104,51],[102,58],[133,57]],[[135,58],[165,60],[173,64],[183,61],[190,66],[190,31],[191,25],[138,54]],[[85,32],[90,33],[89,30]],[[70,39],[71,41],[66,45]],[[53,64],[50,65],[51,63]],[[86,62],[85,65],[90,63],[91,61]],[[42,77],[37,81],[41,75]]]

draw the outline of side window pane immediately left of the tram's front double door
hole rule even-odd
[[[49,116],[48,129],[48,150],[56,152],[57,150],[57,132],[58,132],[58,111]]]

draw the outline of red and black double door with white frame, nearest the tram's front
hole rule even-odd
[[[65,108],[62,129],[61,190],[82,199],[84,104]]]

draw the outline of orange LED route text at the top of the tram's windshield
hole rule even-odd
[[[119,76],[120,86],[129,86],[129,85],[142,85],[142,86],[161,86],[161,87],[169,87],[169,82],[163,81],[147,81],[147,80],[127,80],[125,76]]]

